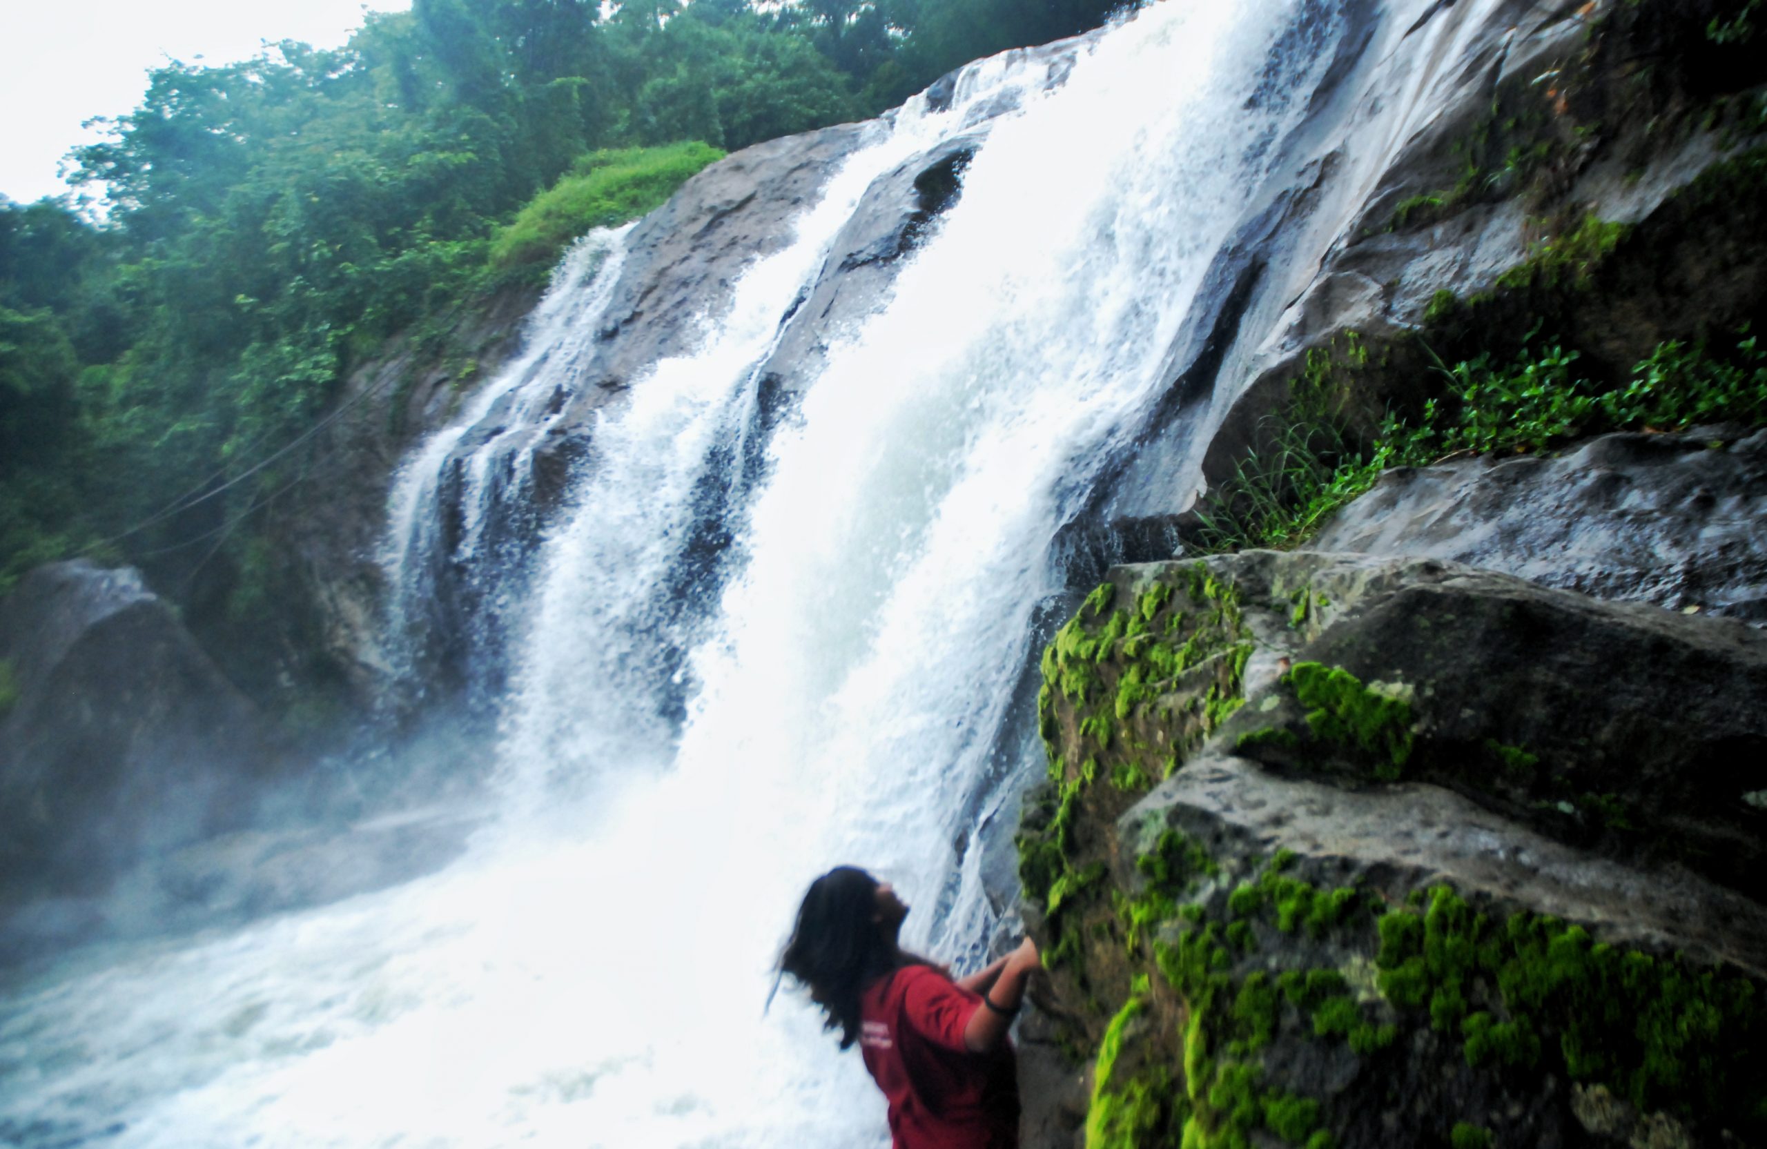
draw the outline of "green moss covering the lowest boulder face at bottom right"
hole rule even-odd
[[[1756,1089],[1767,1080],[1767,1008],[1733,970],[1596,942],[1537,914],[1491,917],[1449,886],[1396,903],[1355,886],[1315,886],[1286,852],[1232,889],[1216,884],[1202,902],[1184,902],[1225,870],[1194,840],[1170,834],[1138,863],[1161,889],[1119,898],[1119,930],[1141,940],[1124,951],[1133,972],[1119,983],[1127,988],[1120,1004],[1099,1002],[1110,1022],[1094,1046],[1087,1145],[1226,1149],[1258,1137],[1334,1145],[1334,1121],[1352,1114],[1334,1117],[1332,1098],[1285,1089],[1265,1064],[1269,1050],[1332,1043],[1369,1062],[1350,1096],[1380,1096],[1376,1080],[1438,1075],[1403,1068],[1415,1050],[1440,1048],[1408,1038],[1419,1029],[1447,1041],[1458,1071],[1472,1075],[1454,1094],[1468,1101],[1525,1092],[1527,1080],[1557,1073],[1689,1126],[1744,1140],[1767,1131]],[[1097,919],[1088,932],[1110,933]],[[1318,953],[1348,958],[1308,965],[1306,955]],[[1283,1054],[1281,1064],[1293,1057]],[[1477,1085],[1484,1077],[1490,1085]],[[1449,1145],[1504,1137],[1495,1112],[1412,1119],[1422,1121],[1419,1137]]]

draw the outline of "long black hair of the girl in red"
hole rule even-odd
[[[903,965],[926,965],[903,953],[894,923],[878,921],[878,880],[857,866],[836,866],[809,884],[797,907],[792,940],[779,953],[779,972],[809,986],[822,1006],[823,1029],[841,1031],[841,1048],[859,1039],[859,995]],[[776,983],[777,985],[777,983]]]

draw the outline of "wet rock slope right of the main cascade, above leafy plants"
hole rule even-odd
[[[1316,355],[1371,428],[1421,403],[1431,352],[1543,331],[1617,378],[1661,339],[1755,315],[1767,216],[1753,177],[1718,168],[1758,143],[1737,94],[1767,72],[1707,35],[1733,7],[1435,4],[1366,28],[1290,143],[1292,184],[1248,203],[1217,258],[1216,302],[1180,332],[1173,392],[1092,529],[1119,557],[1170,553],[1159,527],[1269,445]],[[1592,219],[1612,247],[1587,242]]]

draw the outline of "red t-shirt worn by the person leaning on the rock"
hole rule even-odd
[[[859,1046],[889,1098],[894,1149],[1018,1149],[1018,1064],[1002,1041],[963,1045],[979,993],[928,965],[873,981],[859,997]]]

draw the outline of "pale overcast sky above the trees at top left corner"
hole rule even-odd
[[[134,110],[168,58],[228,64],[263,41],[336,48],[362,25],[362,0],[4,0],[0,194],[65,191],[57,168],[94,133],[81,120]],[[369,0],[375,11],[410,0]]]

